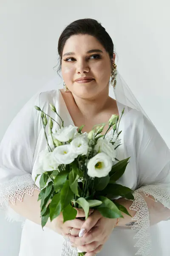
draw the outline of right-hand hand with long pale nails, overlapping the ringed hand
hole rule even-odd
[[[79,250],[87,252],[85,256],[95,256],[102,250],[116,221],[117,219],[103,217],[99,211],[95,210],[82,225],[79,237],[68,236],[68,238]]]

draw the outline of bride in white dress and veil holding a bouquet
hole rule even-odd
[[[11,219],[23,219],[19,256],[72,256],[77,255],[74,247],[86,256],[168,255],[156,238],[160,222],[170,218],[170,150],[117,73],[111,37],[96,20],[76,20],[60,35],[58,53],[64,89],[56,85],[36,94],[11,122],[0,144],[0,208]],[[115,99],[109,96],[110,77]],[[130,163],[117,182],[133,189],[135,199],[116,201],[132,218],[123,213],[124,218],[104,218],[94,210],[83,221],[78,217],[84,212],[78,209],[75,220],[63,224],[61,214],[42,230],[39,180],[34,180],[38,154],[46,142],[34,105],[51,115],[49,103],[65,126],[84,124],[83,132],[125,108],[118,159],[130,157]],[[108,138],[111,134],[112,130]]]

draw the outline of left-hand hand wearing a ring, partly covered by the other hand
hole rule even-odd
[[[55,232],[59,233],[62,236],[67,236],[69,232],[71,236],[79,236],[79,231],[81,230],[81,227],[85,222],[85,220],[81,220],[79,218],[84,218],[85,212],[83,209],[75,209],[77,210],[77,215],[74,220],[65,221],[63,223],[63,215],[61,212],[60,215],[57,218],[55,218],[52,222],[49,219],[46,224],[46,227],[49,227],[50,229],[54,230]],[[89,215],[91,215],[92,212],[93,209],[90,209]]]

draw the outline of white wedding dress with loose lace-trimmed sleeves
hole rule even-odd
[[[22,201],[24,193],[32,195],[34,189],[38,189],[39,180],[34,183],[35,169],[38,154],[46,147],[46,141],[40,112],[34,105],[56,119],[49,103],[56,106],[65,126],[74,125],[61,92],[42,92],[18,113],[0,145],[0,207],[11,219],[22,218],[8,207],[8,200],[13,203],[16,198]],[[164,221],[151,227],[150,221],[154,222],[160,216],[160,220],[170,218],[170,150],[152,123],[135,109],[123,115],[119,130],[122,130],[122,145],[118,148],[117,158],[129,157],[133,151],[136,155],[118,180],[119,184],[135,190],[132,207],[137,211],[136,226],[133,226],[135,229],[116,227],[98,255],[134,256],[138,252],[142,256],[169,256],[169,237],[161,239],[161,233],[170,235],[170,221],[166,221],[166,228]],[[107,135],[108,139],[111,135],[112,131]],[[153,195],[158,201],[149,211],[145,201],[149,198],[144,194]],[[54,231],[48,228],[43,231],[40,225],[24,220],[19,256],[60,256],[63,241],[63,237]]]

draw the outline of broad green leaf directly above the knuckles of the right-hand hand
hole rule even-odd
[[[110,199],[99,196],[98,199],[102,204],[97,207],[97,210],[106,218],[120,218],[123,217],[122,213]]]

